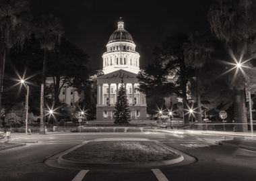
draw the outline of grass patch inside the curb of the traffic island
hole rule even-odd
[[[86,163],[138,163],[171,160],[179,155],[155,141],[91,141],[63,158]]]

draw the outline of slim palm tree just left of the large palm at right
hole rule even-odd
[[[201,95],[199,90],[201,69],[205,66],[207,61],[211,59],[213,52],[212,45],[209,38],[202,36],[198,32],[191,34],[189,40],[184,44],[184,60],[186,66],[195,69],[196,76],[196,98],[197,98],[197,121],[202,123],[201,115]],[[201,125],[199,125],[201,128]]]

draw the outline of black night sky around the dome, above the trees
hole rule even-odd
[[[90,55],[92,70],[102,68],[101,56],[119,17],[133,36],[143,67],[167,36],[209,28],[209,5],[210,0],[30,0],[34,17],[52,13],[61,19],[65,37]]]

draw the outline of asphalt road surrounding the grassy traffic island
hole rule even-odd
[[[137,137],[158,140],[193,156],[196,162],[159,168],[108,168],[69,170],[44,164],[51,156],[82,141],[106,137]],[[30,140],[33,140],[31,135]],[[36,140],[36,139],[34,139]],[[193,135],[174,133],[69,133],[45,135],[38,143],[29,143],[0,152],[0,180],[256,180],[256,153],[205,142]]]

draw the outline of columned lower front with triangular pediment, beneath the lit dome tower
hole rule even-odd
[[[137,87],[136,74],[125,70],[117,70],[110,74],[98,76],[97,78],[97,119],[113,119],[115,103],[117,101],[118,88],[121,86],[121,80],[125,84],[131,119],[146,119],[146,97]]]

